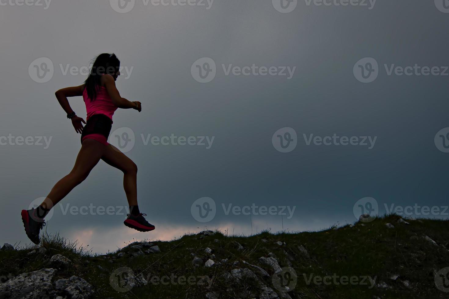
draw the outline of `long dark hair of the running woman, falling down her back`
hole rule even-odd
[[[84,81],[87,95],[92,101],[97,97],[97,88],[101,86],[101,75],[113,75],[119,71],[120,61],[114,53],[103,53],[95,58],[92,70]]]

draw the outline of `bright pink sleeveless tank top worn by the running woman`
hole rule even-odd
[[[115,110],[117,110],[117,106],[112,103],[112,99],[110,98],[108,92],[106,91],[106,87],[98,86],[97,87],[97,97],[95,100],[91,101],[91,99],[87,95],[87,90],[84,88],[83,91],[83,100],[86,104],[87,118],[88,119],[95,114],[104,114],[112,120],[112,116],[114,115]]]

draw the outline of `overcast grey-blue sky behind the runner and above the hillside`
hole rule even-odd
[[[29,243],[20,210],[72,168],[79,135],[54,92],[102,52],[142,102],[115,113],[110,143],[136,162],[156,230],[123,225],[122,173],[101,161],[49,233],[107,252],[206,228],[320,230],[361,207],[448,217],[443,0],[120,1],[0,0],[2,244]]]

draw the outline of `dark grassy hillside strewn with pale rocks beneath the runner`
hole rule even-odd
[[[449,298],[449,221],[361,216],[320,232],[202,231],[91,255],[4,244],[0,298]]]

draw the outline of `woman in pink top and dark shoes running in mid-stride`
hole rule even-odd
[[[67,87],[56,91],[56,98],[72,121],[76,133],[81,134],[81,149],[75,166],[62,178],[39,207],[22,210],[22,221],[26,235],[39,244],[40,230],[45,226],[44,217],[75,186],[83,182],[101,159],[107,164],[123,171],[123,188],[129,204],[129,214],[123,222],[126,226],[146,232],[154,230],[139,211],[137,205],[137,166],[125,154],[107,142],[112,127],[112,116],[117,108],[133,108],[141,112],[141,103],[122,98],[115,87],[120,75],[120,61],[114,53],[100,54],[92,65],[92,70],[83,85]],[[87,110],[87,122],[76,116],[70,108],[67,97],[83,96]],[[83,123],[85,126],[83,126]]]

